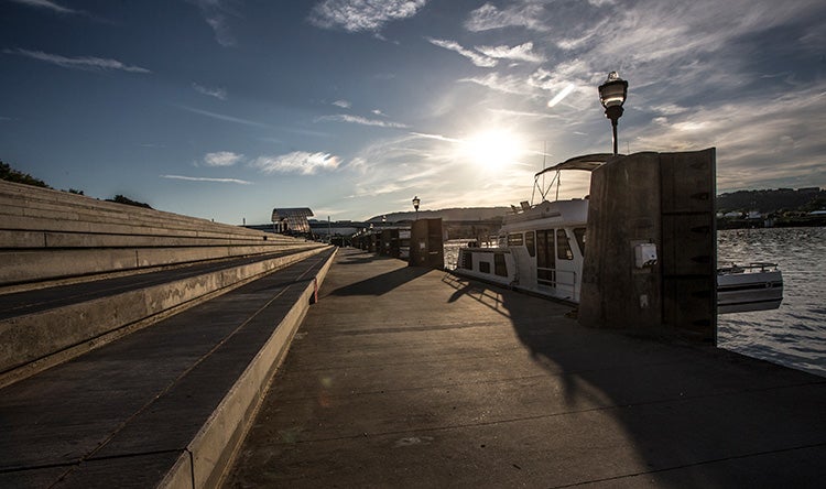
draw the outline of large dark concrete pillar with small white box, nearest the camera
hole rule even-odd
[[[591,173],[580,324],[714,338],[714,149],[618,155]],[[641,244],[655,263],[638,267]]]

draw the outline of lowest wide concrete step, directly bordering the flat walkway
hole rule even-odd
[[[0,487],[217,485],[333,254],[2,388]],[[100,300],[117,308],[118,295]]]

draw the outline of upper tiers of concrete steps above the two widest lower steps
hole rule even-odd
[[[0,292],[319,247],[287,236],[0,182]]]

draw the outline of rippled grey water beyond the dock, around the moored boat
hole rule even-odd
[[[446,268],[459,246],[445,243]],[[778,263],[784,290],[778,309],[718,316],[719,346],[826,377],[826,228],[719,231],[717,254],[721,267]]]

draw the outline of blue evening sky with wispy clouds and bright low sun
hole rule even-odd
[[[621,153],[826,187],[823,0],[0,0],[0,160],[227,224],[508,206],[611,151],[611,70]]]

